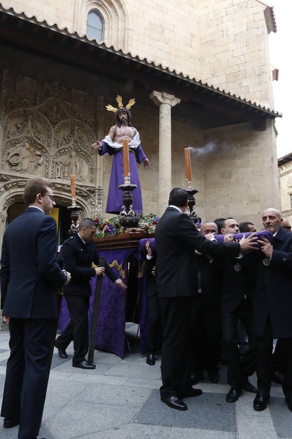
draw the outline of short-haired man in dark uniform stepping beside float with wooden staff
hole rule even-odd
[[[95,222],[86,218],[80,222],[79,232],[73,237],[68,238],[61,248],[64,267],[72,275],[70,284],[64,288],[64,297],[71,320],[62,334],[55,340],[55,347],[58,348],[61,358],[67,358],[66,348],[73,340],[74,356],[72,365],[81,369],[95,369],[95,364],[90,364],[85,359],[89,348],[88,309],[91,296],[90,279],[95,275],[102,276],[105,273],[112,282],[124,289],[126,288],[126,285],[110,268],[108,262],[105,262],[105,268],[91,267],[92,262],[96,265],[99,263],[99,254],[92,241],[95,233]]]

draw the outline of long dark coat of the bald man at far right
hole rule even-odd
[[[292,233],[280,227],[273,238],[270,265],[258,252],[254,294],[254,332],[263,337],[270,316],[274,339],[292,337]]]

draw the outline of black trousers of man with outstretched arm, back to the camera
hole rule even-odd
[[[183,395],[191,387],[191,301],[189,297],[159,299],[163,330],[161,397]]]

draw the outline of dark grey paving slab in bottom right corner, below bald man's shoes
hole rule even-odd
[[[279,438],[292,437],[292,412],[288,409],[285,398],[271,398],[269,409],[274,429]]]

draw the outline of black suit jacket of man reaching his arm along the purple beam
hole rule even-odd
[[[158,296],[183,297],[198,293],[198,264],[195,250],[208,255],[238,256],[236,242],[208,241],[192,221],[168,207],[155,229]]]

